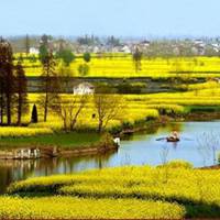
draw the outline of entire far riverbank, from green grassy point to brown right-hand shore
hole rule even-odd
[[[161,116],[155,120],[140,121],[132,125],[124,124],[119,128],[119,132],[111,133],[113,138],[124,139],[138,132],[156,132],[162,125],[173,122],[184,121],[210,121],[220,119],[219,112],[199,112],[185,116]],[[26,160],[46,158],[56,156],[82,156],[95,155],[103,152],[117,151],[113,138],[108,138],[103,146],[101,136],[87,132],[53,133],[46,135],[24,136],[24,138],[2,138],[0,139],[0,160]]]

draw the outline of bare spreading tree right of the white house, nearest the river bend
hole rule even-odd
[[[111,120],[117,119],[124,108],[122,96],[116,94],[102,94],[97,91],[94,96],[98,114],[98,132],[101,133]]]

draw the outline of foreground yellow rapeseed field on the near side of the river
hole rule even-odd
[[[182,161],[35,177],[12,184],[11,196],[0,197],[0,218],[211,218],[220,215],[219,189],[218,170]],[[45,193],[51,196],[38,197]],[[20,194],[26,198],[14,197]]]

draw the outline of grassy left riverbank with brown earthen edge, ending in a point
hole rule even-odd
[[[57,135],[59,139],[63,138],[63,141],[64,139],[67,139],[65,140],[65,143],[67,141],[68,144],[65,145],[62,140],[59,140],[59,142],[56,142],[57,136],[55,134],[51,136],[3,139],[6,145],[3,142],[1,142],[0,144],[0,160],[35,160],[48,157],[95,155],[109,151],[117,151],[119,147],[118,144],[113,143],[113,140],[109,134],[102,134],[101,136],[99,136],[98,134],[94,134],[92,136],[81,133],[68,133]],[[88,138],[88,140],[84,140],[86,136]],[[44,140],[44,142],[36,142],[37,139]],[[51,140],[51,143],[48,144],[46,141],[50,139],[53,140]],[[78,139],[81,139],[80,142],[77,142]],[[73,141],[72,143],[69,143],[70,140]],[[15,145],[16,143],[18,145]],[[61,145],[61,143],[63,143],[64,145]]]

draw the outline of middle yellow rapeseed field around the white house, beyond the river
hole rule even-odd
[[[74,95],[61,95],[63,100],[73,100]],[[189,85],[189,91],[185,92],[162,92],[151,95],[119,95],[123,96],[124,108],[120,114],[111,120],[107,127],[111,130],[121,127],[123,123],[135,124],[147,119],[157,119],[162,109],[167,113],[174,112],[184,116],[191,106],[218,107],[220,106],[220,86],[217,82],[207,82]],[[37,105],[40,95],[29,94],[30,111],[22,118],[22,122],[30,123],[31,109],[34,103],[38,110],[38,123],[31,123],[29,128],[0,128],[0,136],[28,136],[52,133],[52,130],[59,131],[63,129],[61,117],[53,111],[48,112],[47,122],[43,122],[43,109]],[[79,130],[96,130],[98,128],[98,118],[94,106],[94,98],[90,96],[86,108],[79,114],[76,128]],[[15,122],[15,116],[14,116]]]

